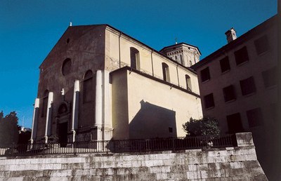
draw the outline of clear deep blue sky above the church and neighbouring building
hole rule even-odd
[[[1,0],[0,111],[32,125],[39,65],[67,26],[109,24],[160,50],[178,42],[200,48],[202,58],[277,13],[276,0]]]

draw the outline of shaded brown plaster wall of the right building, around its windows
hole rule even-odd
[[[197,69],[198,80],[200,82],[200,95],[202,96],[202,109],[204,116],[214,116],[219,121],[219,125],[224,133],[228,133],[228,123],[226,116],[230,114],[240,113],[242,126],[245,131],[253,133],[254,142],[258,159],[268,175],[273,173],[272,164],[276,159],[273,155],[279,155],[275,147],[278,130],[276,114],[277,114],[277,86],[265,87],[262,72],[277,66],[277,23],[270,22],[263,26],[263,29],[252,29],[251,34],[240,40],[237,46],[228,48],[221,52],[216,58],[210,60]],[[261,55],[256,53],[254,41],[263,35],[267,35],[269,50]],[[234,42],[233,42],[234,43]],[[249,61],[236,65],[235,51],[246,46],[249,55]],[[219,60],[228,56],[230,62],[230,71],[221,73]],[[211,79],[202,82],[200,72],[202,69],[209,67]],[[242,95],[240,80],[254,77],[256,92],[250,95]],[[223,88],[233,85],[235,88],[236,99],[225,102],[223,98]],[[204,96],[209,93],[214,95],[214,107],[206,109],[204,105]],[[262,120],[260,125],[250,127],[247,117],[247,111],[251,109],[261,108]],[[265,146],[266,142],[266,146]],[[276,172],[279,175],[279,170]]]

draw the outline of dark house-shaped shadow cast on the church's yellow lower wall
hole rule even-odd
[[[129,124],[130,139],[176,137],[176,112],[141,100],[141,109]]]

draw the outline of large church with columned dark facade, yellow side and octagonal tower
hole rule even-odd
[[[68,27],[39,67],[31,141],[185,136],[202,117],[200,55],[186,43],[160,53],[110,25]]]

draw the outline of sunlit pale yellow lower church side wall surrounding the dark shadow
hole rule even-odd
[[[129,123],[141,109],[141,101],[176,112],[177,136],[185,136],[182,124],[190,117],[202,117],[200,98],[176,88],[131,72],[128,75],[128,115]],[[145,120],[144,120],[145,121]],[[159,128],[155,128],[157,130]],[[164,128],[167,130],[168,128]],[[146,134],[146,133],[145,133]],[[150,135],[146,135],[150,136]]]

